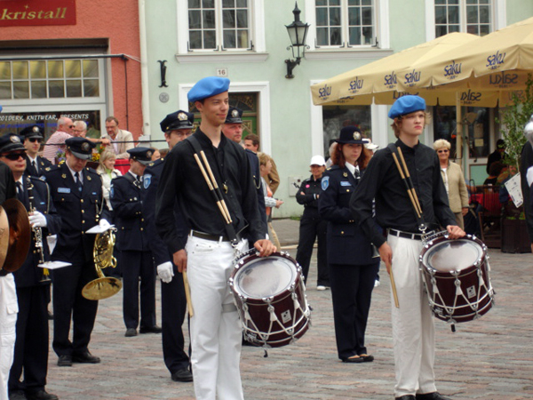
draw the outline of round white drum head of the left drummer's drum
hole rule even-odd
[[[235,290],[245,297],[262,299],[284,292],[296,281],[297,269],[290,260],[270,256],[255,258],[235,274]]]

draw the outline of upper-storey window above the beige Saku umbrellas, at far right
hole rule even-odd
[[[451,32],[485,36],[492,26],[491,0],[434,0],[435,37]]]

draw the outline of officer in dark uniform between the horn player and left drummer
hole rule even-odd
[[[131,148],[130,171],[111,181],[109,199],[118,232],[116,244],[123,270],[123,318],[126,337],[140,333],[161,333],[155,325],[155,267],[148,247],[147,223],[142,214],[140,188],[147,164],[152,163],[151,148]]]

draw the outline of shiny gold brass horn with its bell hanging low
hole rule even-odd
[[[85,284],[84,289],[82,289],[82,295],[85,299],[107,299],[120,292],[122,289],[122,282],[120,279],[112,276],[104,276],[104,273],[102,272],[102,268],[116,267],[116,259],[113,257],[115,230],[116,228],[110,228],[96,236],[92,256],[94,258],[94,268],[96,268],[98,278]]]

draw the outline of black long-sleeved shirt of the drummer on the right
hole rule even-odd
[[[410,148],[402,140],[397,140],[395,146],[402,148],[428,229],[438,228],[439,223],[443,227],[457,225],[449,209],[439,158],[434,149],[421,143]],[[389,148],[378,150],[372,157],[350,201],[355,220],[370,241],[379,247],[385,238],[372,220],[373,198],[376,199],[376,218],[380,227],[419,233],[413,205]]]

